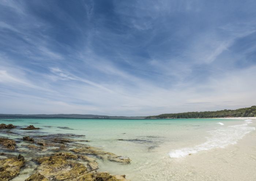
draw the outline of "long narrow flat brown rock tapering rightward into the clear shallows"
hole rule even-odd
[[[117,156],[114,153],[104,152],[104,151],[97,149],[96,147],[92,147],[92,146],[84,146],[82,148],[75,148],[75,149],[71,149],[71,151],[74,153],[93,155],[100,159],[106,159],[109,161],[120,162],[120,163],[124,163],[124,164],[131,163],[131,160],[128,157]]]

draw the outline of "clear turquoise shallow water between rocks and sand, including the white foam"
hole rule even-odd
[[[218,180],[218,177],[211,179],[189,171],[193,170],[190,162],[193,159],[192,162],[200,162],[206,154],[214,161],[218,157],[214,154],[211,158],[213,151],[234,145],[255,130],[252,121],[228,119],[5,118],[0,119],[0,123],[40,127],[30,135],[86,135],[91,142],[85,144],[132,160],[129,165],[98,161],[99,171],[125,174],[132,181]],[[25,130],[12,131],[28,134]],[[0,130],[0,136],[6,137],[6,134]],[[17,139],[20,136],[10,134],[8,137]],[[22,180],[18,177],[14,180],[19,179]]]

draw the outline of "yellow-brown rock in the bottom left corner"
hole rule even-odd
[[[16,177],[24,163],[24,157],[21,155],[0,160],[0,180],[8,181]]]

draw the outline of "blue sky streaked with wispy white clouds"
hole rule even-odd
[[[0,113],[256,105],[254,0],[0,0]]]

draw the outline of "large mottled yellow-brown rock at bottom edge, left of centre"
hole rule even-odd
[[[86,156],[61,152],[53,156],[39,157],[34,161],[39,164],[36,169],[37,173],[25,181],[127,181],[124,175],[113,176],[107,172],[97,173],[95,169],[92,169],[92,165],[97,162]]]

